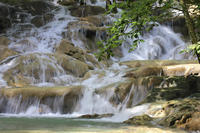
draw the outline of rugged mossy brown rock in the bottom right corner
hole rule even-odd
[[[169,101],[164,107],[167,116],[158,124],[167,127],[183,128],[186,130],[199,130],[200,101],[195,99],[183,99]],[[193,124],[194,125],[193,125]]]

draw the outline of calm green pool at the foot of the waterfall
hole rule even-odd
[[[69,118],[0,117],[0,133],[184,133],[121,123]]]

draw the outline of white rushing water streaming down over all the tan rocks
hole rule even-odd
[[[53,2],[56,6],[57,2]],[[105,2],[98,0],[97,3],[86,1],[87,4],[105,7]],[[63,106],[63,97],[56,97],[50,100],[50,104],[41,104],[40,100],[30,99],[30,101],[22,102],[22,97],[11,98],[7,102],[7,106],[4,109],[4,113],[10,115],[20,114],[21,116],[48,116],[48,117],[77,117],[84,114],[108,114],[114,113],[111,118],[104,118],[105,121],[122,122],[131,116],[145,113],[149,105],[141,105],[131,107],[127,109],[128,101],[131,98],[131,94],[134,93],[132,99],[132,105],[137,104],[146,95],[146,88],[138,89],[138,86],[132,86],[130,93],[125,100],[118,106],[114,106],[110,103],[109,99],[113,95],[112,88],[116,87],[119,82],[125,80],[123,75],[128,70],[126,66],[120,66],[114,63],[111,67],[105,69],[95,68],[97,74],[86,80],[81,81],[79,78],[75,78],[72,75],[67,74],[61,65],[59,65],[53,57],[46,56],[46,53],[52,54],[55,51],[55,47],[60,43],[63,38],[63,33],[68,32],[66,27],[70,22],[77,21],[78,18],[72,17],[68,9],[59,6],[59,10],[54,12],[54,19],[52,22],[40,27],[32,27],[31,30],[24,31],[13,37],[18,32],[20,25],[16,25],[14,29],[8,32],[12,43],[10,48],[20,52],[20,56],[27,56],[30,54],[36,54],[39,59],[40,76],[36,80],[33,78],[32,84],[35,86],[54,86],[54,85],[82,85],[84,86],[83,97],[79,104],[75,108],[72,114],[62,115],[61,111]],[[110,21],[110,20],[108,20]],[[78,26],[77,26],[78,27]],[[85,48],[85,42],[77,37],[76,32],[78,28],[72,28],[72,42],[75,46]],[[84,34],[84,33],[81,33]],[[80,33],[78,34],[80,35]],[[100,35],[99,35],[100,36]],[[76,37],[76,38],[75,38]],[[98,38],[98,37],[97,37]],[[184,48],[186,43],[182,41],[180,34],[176,34],[172,29],[166,26],[159,25],[155,27],[150,33],[142,37],[144,43],[131,53],[128,53],[126,45],[133,40],[127,40],[124,46],[121,48],[123,57],[121,61],[127,60],[148,60],[148,59],[184,59],[183,55],[180,55],[178,51]],[[15,60],[20,57],[16,57],[11,61],[5,62],[0,65],[0,87],[5,87],[6,81],[3,80],[3,73],[10,68],[16,66]],[[24,60],[26,62],[26,60]],[[27,62],[26,62],[27,63]],[[48,67],[54,68],[53,81],[47,80],[46,70]],[[99,74],[100,73],[100,74]],[[103,76],[101,76],[103,74]],[[31,78],[31,75],[28,75]],[[113,84],[115,84],[113,86]],[[95,92],[101,88],[111,85],[110,91],[105,95],[96,94]],[[142,90],[140,92],[140,90]],[[0,99],[0,105],[4,104],[4,99]],[[23,104],[23,105],[22,105]],[[51,106],[51,108],[50,108]],[[2,107],[3,108],[3,107]],[[41,114],[41,110],[43,110]],[[8,114],[6,114],[8,115]]]

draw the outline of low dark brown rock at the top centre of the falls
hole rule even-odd
[[[73,6],[69,10],[71,11],[71,15],[75,17],[86,17],[105,13],[104,8],[90,5]]]

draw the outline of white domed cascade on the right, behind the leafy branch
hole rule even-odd
[[[127,39],[122,48],[124,57],[127,60],[153,60],[153,59],[184,59],[179,51],[185,48],[185,42],[180,34],[176,34],[170,27],[159,25],[142,37],[144,43],[138,45],[133,52],[128,52],[127,45],[132,40]]]

